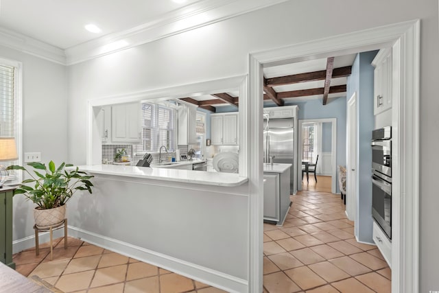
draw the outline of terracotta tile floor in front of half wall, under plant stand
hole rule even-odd
[[[16,270],[26,277],[38,276],[63,292],[224,292],[80,239],[69,237],[67,250],[64,238],[55,239],[54,244],[53,261],[49,261],[48,243],[40,245],[38,257],[35,248],[16,253]]]

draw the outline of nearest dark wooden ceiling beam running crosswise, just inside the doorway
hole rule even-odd
[[[333,69],[332,78],[346,78],[346,76],[351,75],[352,67],[339,67]],[[293,75],[279,76],[278,78],[267,78],[265,79],[266,86],[283,86],[285,84],[297,84],[300,82],[313,82],[316,80],[326,79],[327,71],[313,71],[307,73],[298,73]]]

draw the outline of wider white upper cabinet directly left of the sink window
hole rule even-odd
[[[139,103],[118,104],[111,108],[111,140],[113,143],[140,143]]]

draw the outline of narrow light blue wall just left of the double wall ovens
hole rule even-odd
[[[357,92],[357,119],[359,121],[357,152],[357,217],[355,219],[355,235],[361,242],[373,243],[372,240],[372,183],[370,139],[374,128],[373,115],[373,71],[370,65],[377,51],[357,54],[348,77],[347,96],[350,98]],[[360,110],[361,109],[361,110]],[[346,201],[349,200],[346,195]]]

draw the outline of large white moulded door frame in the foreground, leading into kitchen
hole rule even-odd
[[[392,93],[395,154],[392,198],[392,292],[419,290],[419,78],[420,20],[405,21],[357,32],[310,40],[249,54],[248,179],[250,181],[249,291],[262,292],[263,277],[263,67],[353,54],[396,45]],[[411,166],[404,168],[403,166]],[[405,195],[410,196],[405,196]]]

